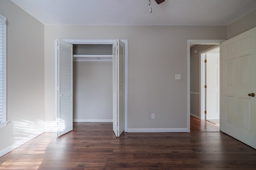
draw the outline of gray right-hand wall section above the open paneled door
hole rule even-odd
[[[256,27],[256,9],[227,26],[227,39],[230,39],[254,27]]]

